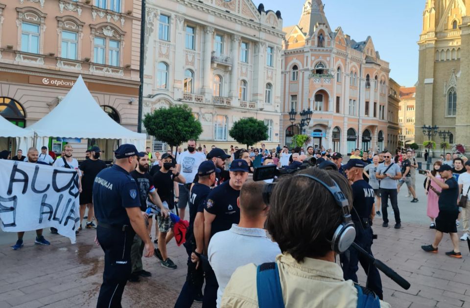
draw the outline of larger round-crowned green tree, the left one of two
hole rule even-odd
[[[177,147],[188,139],[196,139],[202,133],[202,126],[192,115],[188,105],[160,108],[147,113],[143,118],[143,126],[149,135],[173,147]]]

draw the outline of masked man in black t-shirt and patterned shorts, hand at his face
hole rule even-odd
[[[162,167],[158,170],[152,178],[157,194],[162,200],[163,206],[169,209],[169,212],[176,215],[175,202],[174,202],[174,182],[186,183],[184,176],[180,175],[178,170],[173,167],[173,157],[165,153],[162,155]],[[173,237],[173,222],[169,215],[165,213],[157,214],[158,229],[158,248],[155,249],[155,255],[160,259],[163,267],[169,269],[176,269],[176,264],[168,258],[166,253],[166,243]],[[170,232],[171,231],[171,232]],[[169,232],[169,233],[168,233]],[[166,236],[168,233],[168,236]]]

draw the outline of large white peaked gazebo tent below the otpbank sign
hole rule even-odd
[[[49,137],[62,137],[115,139],[144,151],[147,138],[124,128],[102,110],[81,75],[59,105],[28,129],[34,132],[37,149],[47,146]]]

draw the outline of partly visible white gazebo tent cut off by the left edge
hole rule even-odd
[[[0,115],[0,151],[9,150],[7,138],[10,137],[16,140],[16,144],[13,144],[11,155],[16,155],[18,149],[23,150],[23,154],[26,155],[28,139],[31,139],[33,135],[33,131],[18,127]]]

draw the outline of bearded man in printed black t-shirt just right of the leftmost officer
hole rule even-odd
[[[140,156],[143,155],[143,156]],[[147,220],[148,215],[145,213],[147,210],[147,197],[150,195],[154,204],[158,206],[160,211],[163,213],[164,217],[167,216],[167,211],[164,209],[162,201],[158,197],[157,191],[153,185],[153,180],[148,174],[149,167],[149,156],[148,153],[141,152],[137,156],[137,168],[131,172],[131,176],[137,182],[137,187],[139,188],[139,198],[141,201],[141,213],[145,220]],[[139,282],[140,277],[150,277],[152,274],[142,267],[142,254],[143,254],[144,242],[142,242],[139,235],[134,236],[134,242],[132,242],[131,248],[131,260],[132,260],[132,273],[129,278],[130,282]]]

